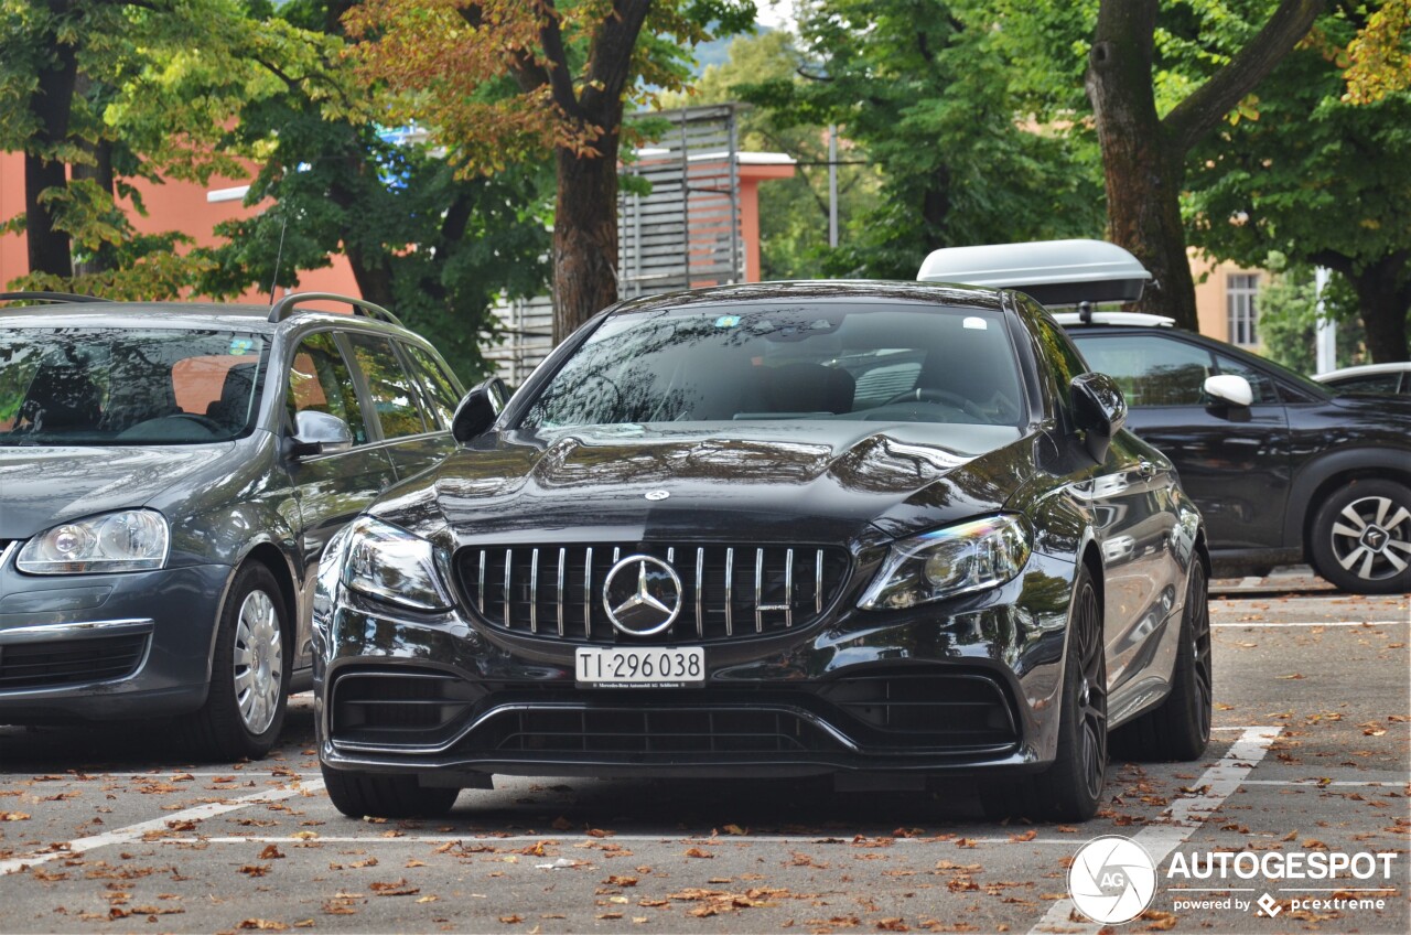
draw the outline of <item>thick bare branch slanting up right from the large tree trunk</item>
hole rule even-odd
[[[1225,114],[1308,34],[1324,6],[1325,0],[1281,0],[1259,35],[1161,120],[1171,144],[1188,153],[1219,126]]]

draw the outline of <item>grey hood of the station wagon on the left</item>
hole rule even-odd
[[[233,442],[161,448],[0,448],[0,540],[140,507],[226,458]]]

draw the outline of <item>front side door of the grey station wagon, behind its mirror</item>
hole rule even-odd
[[[375,442],[358,394],[353,370],[332,330],[319,330],[299,340],[289,357],[285,377],[286,431],[292,434],[298,412],[327,412],[347,422],[353,446],[346,451],[288,459],[288,472],[299,504],[302,528],[299,554],[303,576],[296,640],[296,667],[308,664],[310,633],[308,610],[312,607],[313,583],[319,556],[333,534],[396,480],[396,470],[387,451]]]

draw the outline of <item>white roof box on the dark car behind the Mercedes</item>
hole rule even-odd
[[[1034,240],[934,250],[916,278],[1019,290],[1044,305],[1077,305],[1134,302],[1151,274],[1115,243]]]

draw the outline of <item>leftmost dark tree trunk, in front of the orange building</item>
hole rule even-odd
[[[49,10],[58,16],[68,13],[68,0],[49,0]],[[69,136],[78,56],[73,45],[59,42],[58,37],[54,37],[52,49],[58,65],[40,72],[38,88],[30,96],[30,109],[38,117],[40,127],[24,153],[25,240],[30,273],[71,278],[73,260],[69,236],[54,229],[54,216],[40,196],[51,188],[62,189],[68,185],[68,167],[52,154]]]

